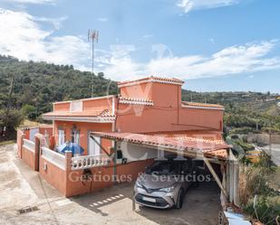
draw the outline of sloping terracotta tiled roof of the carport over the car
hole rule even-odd
[[[159,147],[166,151],[180,151],[182,154],[197,155],[203,154],[208,157],[218,159],[227,159],[227,149],[231,145],[227,145],[221,135],[215,134],[213,138],[203,138],[190,136],[188,132],[174,135],[163,136],[143,135],[136,133],[115,133],[115,132],[92,132],[92,136],[101,136],[117,141],[124,141],[131,144],[146,145],[150,147]],[[209,134],[208,134],[209,136]]]

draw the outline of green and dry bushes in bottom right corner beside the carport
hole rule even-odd
[[[264,224],[276,224],[280,216],[280,195],[272,188],[277,168],[265,153],[257,164],[244,165],[240,173],[240,197],[243,210]]]

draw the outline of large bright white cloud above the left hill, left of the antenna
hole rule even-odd
[[[44,19],[43,19],[44,20]],[[47,61],[85,68],[89,64],[89,43],[72,35],[54,37],[36,23],[38,18],[0,9],[0,54],[24,61]]]

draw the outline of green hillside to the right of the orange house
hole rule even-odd
[[[225,107],[224,124],[237,133],[262,130],[280,132],[280,102],[277,94],[261,92],[195,92],[182,91],[188,101],[221,104]]]

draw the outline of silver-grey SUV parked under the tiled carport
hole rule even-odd
[[[135,183],[135,202],[152,208],[180,209],[196,170],[195,162],[182,156],[155,160]]]

